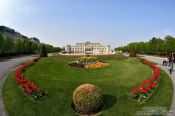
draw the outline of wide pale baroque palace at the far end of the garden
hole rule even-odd
[[[109,54],[111,52],[109,45],[91,42],[67,45],[65,51],[70,54]]]

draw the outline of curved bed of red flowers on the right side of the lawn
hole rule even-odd
[[[144,58],[140,58],[144,64],[153,68],[153,76],[150,77],[148,80],[143,81],[140,85],[134,88],[131,93],[131,99],[137,101],[139,104],[144,103],[150,96],[155,92],[156,88],[158,87],[158,83],[160,80],[160,69],[150,61],[147,61]]]

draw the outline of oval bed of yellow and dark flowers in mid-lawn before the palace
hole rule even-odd
[[[99,61],[97,57],[80,57],[77,58],[76,61],[70,62],[68,65],[72,67],[89,68],[89,69],[109,66],[108,63]]]

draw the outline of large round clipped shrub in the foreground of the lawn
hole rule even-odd
[[[80,85],[73,93],[73,103],[79,113],[93,112],[103,105],[101,89],[93,84]]]

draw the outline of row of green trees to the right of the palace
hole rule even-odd
[[[175,38],[173,36],[165,36],[164,39],[153,37],[148,42],[133,42],[126,46],[115,48],[115,51],[127,51],[137,53],[168,53],[175,52]]]

